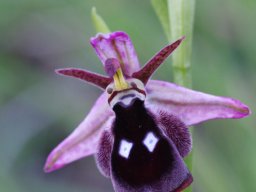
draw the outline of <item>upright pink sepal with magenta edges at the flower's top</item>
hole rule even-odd
[[[121,31],[97,34],[91,38],[91,44],[95,49],[103,65],[109,58],[118,59],[125,75],[131,76],[139,70],[139,61],[129,36]]]

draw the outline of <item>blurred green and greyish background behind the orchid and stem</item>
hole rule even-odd
[[[45,174],[48,153],[84,118],[100,90],[54,69],[103,73],[89,44],[96,6],[126,31],[141,64],[167,44],[150,1],[0,0],[0,191],[113,191],[94,158]],[[256,109],[256,1],[196,1],[193,87]],[[154,78],[172,80],[169,59]],[[255,115],[194,129],[194,191],[256,191]]]

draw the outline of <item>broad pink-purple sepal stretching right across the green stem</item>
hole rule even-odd
[[[164,109],[187,126],[216,118],[242,118],[249,108],[238,100],[193,91],[173,83],[151,80],[147,84],[146,106]]]

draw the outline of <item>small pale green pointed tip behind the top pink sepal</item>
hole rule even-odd
[[[92,8],[92,22],[94,24],[95,30],[98,33],[109,33],[111,32],[108,28],[105,21],[102,19],[100,15],[98,15],[96,8]]]

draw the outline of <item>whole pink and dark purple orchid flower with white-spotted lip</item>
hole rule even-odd
[[[243,118],[238,100],[150,80],[184,40],[167,45],[144,67],[124,32],[97,34],[91,44],[108,76],[83,69],[56,72],[103,89],[89,114],[49,155],[45,171],[95,155],[116,192],[178,192],[193,181],[183,158],[192,148],[188,127],[216,118]]]

